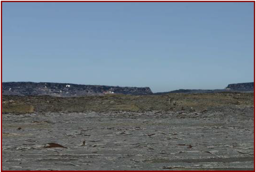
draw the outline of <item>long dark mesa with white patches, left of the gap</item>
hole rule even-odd
[[[104,94],[151,95],[152,92],[149,87],[93,86],[49,82],[3,82],[2,94],[73,97]]]

